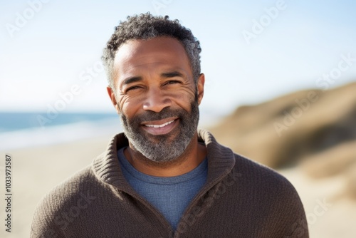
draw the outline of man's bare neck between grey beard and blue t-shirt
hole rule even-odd
[[[124,150],[124,155],[136,170],[146,175],[173,177],[194,170],[206,157],[206,148],[198,143],[196,133],[183,154],[172,161],[152,161],[135,150],[131,144]]]

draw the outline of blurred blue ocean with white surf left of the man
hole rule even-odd
[[[115,113],[0,113],[0,151],[120,133]]]

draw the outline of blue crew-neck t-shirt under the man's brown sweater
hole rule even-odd
[[[117,151],[117,157],[125,179],[139,195],[164,215],[173,229],[176,229],[184,210],[206,181],[207,159],[205,158],[198,167],[184,175],[155,177],[136,170],[126,160],[124,149]]]

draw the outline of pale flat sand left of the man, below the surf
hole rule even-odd
[[[4,225],[1,225],[0,237],[29,237],[33,211],[41,197],[70,175],[90,165],[94,157],[105,150],[110,137],[105,135],[58,145],[1,152],[1,157],[5,157],[6,152],[13,160],[13,219],[11,233],[6,232]],[[1,170],[1,175],[3,172]],[[4,186],[1,186],[1,194],[4,195]],[[1,199],[0,207],[4,207],[4,202]],[[1,220],[4,220],[4,216],[5,211],[1,209]]]

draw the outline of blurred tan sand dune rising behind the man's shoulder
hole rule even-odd
[[[210,130],[221,143],[253,160],[270,167],[292,165],[356,140],[356,83],[243,106]]]

